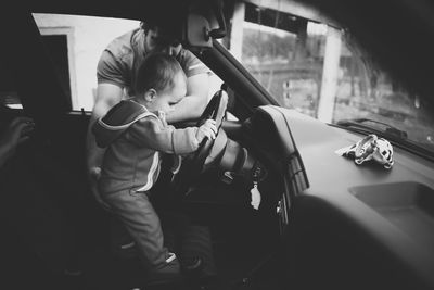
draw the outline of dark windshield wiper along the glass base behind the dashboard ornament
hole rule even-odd
[[[369,123],[371,123],[371,125],[368,125]],[[354,118],[339,121],[336,124],[330,125],[366,135],[375,134],[379,137],[385,138],[394,146],[398,146],[424,159],[434,161],[433,151],[409,140],[406,131],[395,128],[388,124],[370,118]]]

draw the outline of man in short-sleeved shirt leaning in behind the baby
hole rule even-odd
[[[103,51],[97,68],[97,98],[87,136],[88,173],[92,192],[104,206],[97,190],[100,164],[104,150],[95,144],[90,128],[93,123],[122,99],[132,96],[136,73],[144,56],[152,52],[165,52],[180,63],[187,75],[187,96],[167,115],[168,123],[197,118],[207,103],[208,68],[190,51],[184,50],[167,27],[141,23],[140,28],[114,39]]]

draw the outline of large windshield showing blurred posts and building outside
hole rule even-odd
[[[282,106],[329,124],[363,119],[379,130],[386,124],[434,152],[434,116],[426,104],[382,71],[348,31],[291,14],[291,8],[244,4],[242,11],[241,48],[231,50]]]

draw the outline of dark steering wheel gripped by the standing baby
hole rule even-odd
[[[209,103],[199,118],[196,126],[200,127],[208,118],[215,119],[217,127],[217,136],[220,131],[221,123],[226,115],[227,105],[228,93],[225,90],[220,89],[209,100]],[[187,157],[182,161],[181,168],[171,180],[171,188],[177,197],[184,196],[188,192],[190,186],[202,173],[206,157],[209,155],[216,139],[204,138],[197,150],[194,152],[194,155],[190,159]]]

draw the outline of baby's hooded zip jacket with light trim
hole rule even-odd
[[[133,100],[124,100],[98,119],[92,131],[105,148],[99,190],[108,194],[120,190],[148,191],[159,174],[161,154],[195,151],[197,128],[177,129]]]

